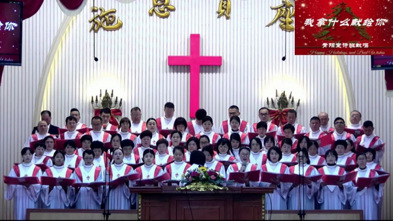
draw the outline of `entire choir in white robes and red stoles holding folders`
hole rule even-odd
[[[206,159],[204,166],[219,172],[226,180],[230,180],[232,172],[254,170],[262,175],[302,177],[293,182],[242,178],[223,184],[273,187],[274,193],[266,198],[268,210],[361,209],[366,220],[380,218],[384,184],[373,181],[369,187],[358,187],[357,182],[360,177],[378,177],[384,171],[379,164],[385,146],[373,134],[371,121],[360,124],[359,111],[351,112],[348,127],[337,117],[334,128],[328,125],[328,114],[321,112],[310,119],[309,132],[296,123],[294,110],[287,112],[288,123],[278,126],[269,121],[268,108],[258,111],[259,122],[249,124],[239,117],[239,108],[231,106],[229,119],[221,123],[219,131],[203,109],[197,110],[196,119],[190,122],[173,116],[172,103],[165,105],[164,114],[143,122],[140,108],[135,107],[131,110],[131,120],[123,117],[116,127],[109,122],[111,110],[102,109],[87,128],[80,122],[78,109],[72,109],[65,119],[66,130],[59,129],[57,135],[53,132],[57,127],[50,124],[50,111],[43,111],[42,120],[22,149],[22,164],[15,164],[9,176],[37,177],[40,181],[42,177],[64,178],[74,180],[75,184],[7,184],[5,198],[14,199],[14,218],[25,219],[27,208],[100,209],[103,204],[110,209],[135,208],[136,196],[130,194],[130,188],[142,185],[142,180],[157,181],[165,173],[171,185],[176,182],[182,185],[182,174],[194,168],[189,164],[193,151],[201,151]],[[350,134],[347,129],[363,133]],[[165,130],[170,130],[168,136],[161,134]],[[325,136],[331,142],[320,146]],[[359,146],[365,151],[358,151]],[[357,166],[352,171],[348,165]],[[357,175],[347,182],[315,179],[320,174],[328,177],[350,172]],[[129,180],[129,175],[134,173],[139,173],[140,182]],[[105,184],[116,180],[121,180],[121,184],[113,187]]]

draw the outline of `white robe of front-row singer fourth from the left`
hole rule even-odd
[[[130,172],[127,174],[125,173],[127,165],[122,163],[122,164],[112,164],[111,169],[112,169],[112,179],[109,173],[107,173],[107,180],[116,180],[119,177],[125,176],[125,175],[131,175],[134,173],[134,169],[131,168]],[[111,210],[129,210],[131,209],[131,202],[135,203],[136,202],[136,197],[135,194],[131,196],[130,193],[130,187],[132,187],[132,182],[129,182],[128,186],[126,183],[123,185],[117,186],[115,189],[111,189],[111,193],[109,193],[109,209]],[[106,193],[108,194],[109,192],[109,186],[106,186],[107,191]],[[108,208],[108,204],[107,204]]]

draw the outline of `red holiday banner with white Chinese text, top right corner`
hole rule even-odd
[[[393,55],[393,0],[296,0],[295,55]]]

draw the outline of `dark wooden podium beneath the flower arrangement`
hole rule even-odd
[[[273,188],[228,189],[180,192],[164,186],[133,187],[130,192],[138,193],[138,220],[265,220],[265,193]]]

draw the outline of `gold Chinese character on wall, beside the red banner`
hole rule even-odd
[[[267,24],[266,27],[269,27],[273,24],[275,24],[279,19],[280,19],[280,28],[282,30],[286,31],[293,31],[295,28],[293,25],[293,20],[291,19],[292,17],[295,16],[295,6],[289,1],[289,0],[282,0],[282,4],[278,6],[270,6],[271,9],[277,10],[276,17],[271,21],[269,24]],[[291,12],[291,8],[293,8]]]

